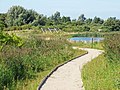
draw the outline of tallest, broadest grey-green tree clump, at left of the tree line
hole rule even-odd
[[[34,10],[26,10],[21,6],[13,6],[7,12],[7,26],[22,26],[32,24],[33,26],[45,25],[46,17]]]

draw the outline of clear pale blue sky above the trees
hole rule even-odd
[[[33,9],[47,16],[59,11],[61,16],[71,18],[77,18],[81,14],[87,18],[120,18],[120,0],[0,0],[0,13],[7,12],[13,5]]]

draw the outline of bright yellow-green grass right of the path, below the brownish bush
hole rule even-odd
[[[120,66],[111,67],[104,55],[100,55],[83,67],[85,90],[119,90]]]

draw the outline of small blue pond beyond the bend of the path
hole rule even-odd
[[[101,37],[73,37],[69,39],[70,41],[75,41],[75,42],[100,42],[104,40],[104,38]]]

